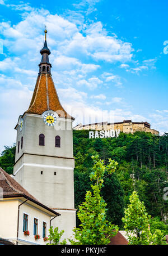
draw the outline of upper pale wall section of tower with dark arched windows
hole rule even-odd
[[[45,146],[39,146],[39,134],[41,133],[45,135]],[[60,148],[55,147],[57,135],[60,136]],[[19,153],[16,150],[16,161],[23,152],[73,158],[72,120],[58,118],[53,127],[48,127],[41,115],[27,114],[22,131],[19,127],[17,128],[17,145],[18,141],[21,145],[21,136],[24,137],[23,150]]]

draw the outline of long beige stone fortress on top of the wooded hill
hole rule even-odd
[[[80,123],[73,129],[78,131],[80,130],[109,131],[109,130],[119,129],[120,132],[124,132],[124,133],[134,133],[134,132],[140,131],[140,132],[151,132],[152,134],[159,135],[158,131],[151,129],[151,124],[147,122],[132,122],[132,120],[124,120],[123,122],[118,122],[118,123],[102,122],[102,123],[85,124],[85,125],[82,125]]]

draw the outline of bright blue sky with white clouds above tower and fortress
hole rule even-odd
[[[30,104],[44,25],[55,87],[74,125],[132,119],[168,132],[167,7],[166,0],[0,0],[0,151],[15,142],[13,128]]]

